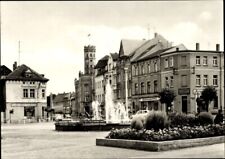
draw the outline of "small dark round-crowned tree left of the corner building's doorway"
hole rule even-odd
[[[174,91],[164,88],[160,93],[160,102],[166,104],[166,112],[168,113],[169,108],[172,106],[172,102],[175,99],[176,95]]]

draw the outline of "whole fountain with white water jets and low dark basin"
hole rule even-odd
[[[93,117],[91,119],[79,121],[66,121],[55,123],[56,130],[59,131],[91,131],[110,130],[112,128],[124,128],[130,126],[128,110],[120,102],[113,101],[112,88],[109,82],[106,84],[105,94],[105,120],[102,119],[100,104],[98,101],[92,102]]]

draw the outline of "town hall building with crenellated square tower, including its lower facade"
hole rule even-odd
[[[79,72],[79,79],[74,80],[75,106],[72,108],[74,118],[80,115],[91,115],[91,104],[95,100],[95,46],[84,46],[84,73]]]

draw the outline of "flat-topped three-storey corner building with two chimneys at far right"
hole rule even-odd
[[[167,50],[160,55],[162,88],[173,89],[176,93],[174,109],[178,112],[197,111],[196,98],[206,86],[214,86],[217,98],[211,102],[209,111],[216,113],[224,108],[224,54],[219,50],[180,49]]]

